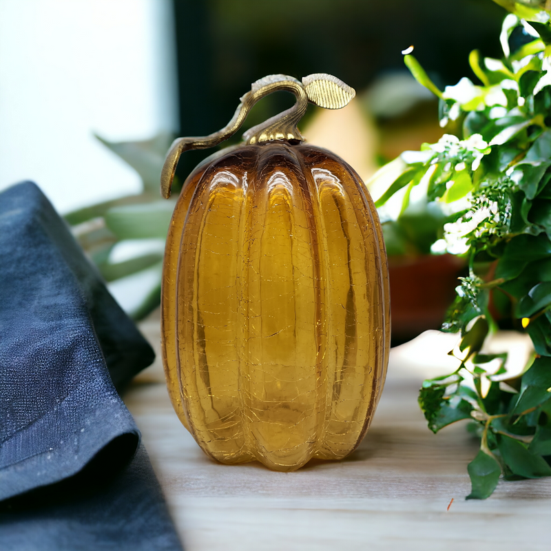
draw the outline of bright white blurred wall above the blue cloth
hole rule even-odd
[[[34,180],[61,212],[136,192],[92,136],[178,127],[169,0],[0,0],[0,190]]]

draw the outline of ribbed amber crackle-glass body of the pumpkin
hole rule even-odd
[[[202,450],[295,470],[346,457],[366,434],[390,324],[382,232],[362,180],[294,128],[283,133],[252,129],[187,178],[167,237],[162,336],[169,395]],[[185,149],[177,141],[167,158],[165,195]]]

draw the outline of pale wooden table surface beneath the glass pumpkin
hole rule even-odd
[[[158,322],[141,329],[158,351]],[[360,448],[289,473],[207,458],[172,409],[158,357],[123,399],[185,550],[549,550],[551,478],[500,481],[490,499],[466,501],[477,441],[464,423],[438,435],[426,428],[417,390],[424,377],[447,373],[453,338],[432,332],[393,349]]]

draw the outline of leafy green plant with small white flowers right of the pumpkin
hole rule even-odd
[[[450,352],[459,368],[426,380],[419,405],[435,433],[470,420],[481,443],[468,465],[468,498],[475,499],[489,497],[501,475],[551,475],[550,13],[541,2],[498,3],[517,14],[503,22],[503,59],[471,52],[480,84],[464,78],[442,92],[405,56],[417,81],[439,97],[446,134],[405,152],[372,183],[388,188],[379,207],[399,197],[405,210],[410,194],[422,190],[446,216],[431,251],[468,263],[443,325],[461,332]],[[532,340],[534,352],[518,377],[508,375],[505,353],[482,351],[499,324]]]

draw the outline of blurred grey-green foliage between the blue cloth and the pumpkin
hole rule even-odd
[[[138,172],[142,191],[73,211],[65,215],[65,220],[107,282],[136,274],[147,276],[129,312],[139,320],[160,303],[164,240],[175,200],[160,198],[159,181],[173,136],[160,134],[152,140],[118,143],[96,137]],[[152,240],[157,240],[153,247]],[[132,242],[136,253],[116,260],[115,248],[128,242]]]

